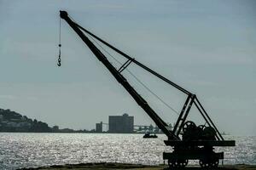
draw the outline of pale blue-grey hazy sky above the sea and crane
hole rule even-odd
[[[95,128],[96,122],[108,122],[109,115],[125,112],[135,116],[136,124],[152,122],[64,20],[62,65],[56,66],[60,9],[80,26],[197,94],[221,132],[256,135],[253,0],[0,0],[0,108],[49,126],[75,129]],[[186,96],[135,65],[129,70],[181,110]],[[176,122],[176,113],[127,72],[124,75],[166,122]],[[194,109],[190,114],[193,121],[204,123]]]

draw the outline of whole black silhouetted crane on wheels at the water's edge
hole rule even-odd
[[[131,97],[140,105],[143,110],[151,117],[155,124],[160,127],[161,131],[168,137],[165,140],[166,145],[170,145],[173,148],[171,153],[163,153],[164,160],[168,160],[170,167],[185,167],[189,160],[199,160],[201,167],[218,167],[219,159],[224,159],[224,152],[215,152],[213,146],[235,146],[235,140],[224,140],[218,128],[212,122],[207,111],[201,105],[201,102],[195,94],[190,93],[188,90],[178,86],[176,83],[170,81],[166,77],[161,76],[159,73],[151,70],[146,65],[138,62],[136,59],[131,58],[129,55],[123,53],[117,48],[114,48],[108,42],[103,41],[101,38],[96,37],[90,31],[87,31],[82,26],[79,26],[76,22],[70,19],[66,11],[60,11],[61,19],[66,20],[67,24],[73,28],[84,43],[90,48],[91,52],[95,54],[102,64],[111,72],[113,77],[125,88],[125,90],[131,94]],[[118,54],[124,56],[127,61],[121,65],[119,69],[116,69],[102,53],[102,51],[96,47],[96,45],[90,41],[84,33],[95,38],[97,41],[102,42],[108,48],[113,49]],[[60,60],[60,59],[59,59]],[[137,93],[137,91],[131,87],[131,84],[127,82],[125,77],[121,74],[127,66],[134,63],[145,71],[148,71],[160,80],[177,88],[183,94],[187,94],[187,99],[183,105],[183,109],[180,112],[177,122],[173,129],[171,129],[166,122],[164,122],[160,116],[148,105],[147,101]],[[206,121],[205,125],[196,126],[195,122],[187,121],[187,116],[191,106],[195,105],[200,112],[203,119]],[[181,134],[182,132],[182,134]]]

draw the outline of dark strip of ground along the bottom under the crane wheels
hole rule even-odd
[[[160,170],[160,169],[168,169],[167,165],[142,165],[142,164],[128,164],[128,163],[112,163],[112,162],[99,162],[99,163],[79,163],[79,164],[65,164],[65,165],[51,165],[44,167],[25,167],[19,168],[19,170],[91,170],[91,169],[109,169],[109,170],[120,170],[120,169],[133,169],[133,170]],[[199,170],[201,167],[189,165],[183,169],[190,170]],[[256,165],[247,165],[247,164],[236,164],[236,165],[219,165],[218,168],[220,170],[256,170]]]

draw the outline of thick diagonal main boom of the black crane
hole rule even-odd
[[[115,69],[115,67],[108,61],[106,56],[104,54],[102,54],[100,49],[96,48],[96,46],[93,44],[93,42],[91,42],[90,39],[84,35],[84,33],[79,29],[78,24],[73,22],[73,20],[71,20],[68,17],[67,12],[66,11],[60,11],[60,16],[61,16],[61,19],[67,21],[67,24],[69,26],[71,26],[73,28],[73,31],[75,31],[79,35],[79,37],[88,46],[88,48],[90,48],[91,52],[93,54],[95,54],[96,58],[99,59],[102,62],[102,64],[107,67],[108,71],[111,72],[113,77],[115,77],[115,79],[125,88],[125,90],[129,94],[131,94],[131,97],[133,99],[135,99],[137,104],[140,105],[143,108],[143,110],[148,114],[148,116],[151,117],[151,119],[155,122],[155,124],[158,127],[160,127],[160,129],[162,130],[163,133],[166,134],[168,139],[180,140],[177,135],[172,133],[172,130],[169,129],[166,122],[164,122],[160,118],[160,116],[158,116],[155,113],[155,111],[148,105],[147,101],[145,99],[143,99],[143,97],[140,94],[138,94],[137,91],[134,88],[131,87],[131,84],[129,82],[127,82],[125,77],[123,77],[122,74],[117,69]]]

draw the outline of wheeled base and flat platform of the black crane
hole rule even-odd
[[[163,159],[168,161],[170,168],[186,167],[189,160],[199,160],[203,168],[218,167],[220,159],[224,159],[224,152],[214,152],[213,146],[235,146],[234,140],[165,140],[166,145],[173,147],[170,153],[164,152]]]

